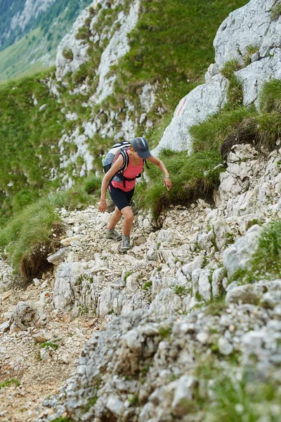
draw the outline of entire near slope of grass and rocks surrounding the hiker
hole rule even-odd
[[[56,68],[2,87],[3,422],[280,421],[281,1],[222,19],[191,84],[161,4],[209,10],[93,3]],[[136,134],[171,189],[145,170],[123,254],[100,156]]]

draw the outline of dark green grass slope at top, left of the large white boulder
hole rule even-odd
[[[161,103],[165,110],[174,110],[214,61],[218,26],[244,4],[247,1],[141,1],[143,13],[130,34],[131,49],[117,69],[119,94],[133,99],[145,82],[158,80],[162,88],[155,108]]]

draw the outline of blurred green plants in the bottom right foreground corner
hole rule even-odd
[[[258,378],[250,366],[246,372],[236,361],[220,364],[214,357],[201,362],[195,376],[192,400],[182,403],[190,420],[200,411],[206,422],[279,421],[280,381]]]

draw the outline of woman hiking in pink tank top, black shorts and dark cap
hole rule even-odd
[[[171,179],[164,163],[158,158],[151,155],[149,151],[148,141],[145,138],[133,139],[129,148],[126,150],[129,158],[129,164],[124,170],[123,179],[116,174],[124,163],[122,154],[113,162],[110,170],[105,173],[101,184],[100,212],[105,212],[107,208],[105,194],[108,187],[112,201],[115,203],[115,211],[110,217],[107,225],[105,236],[115,241],[122,239],[121,252],[124,253],[130,249],[130,234],[133,226],[133,211],[130,207],[131,198],[136,185],[136,177],[143,171],[143,163],[145,159],[157,165],[164,173],[164,186],[171,188]],[[124,217],[123,234],[120,236],[115,230],[116,224]]]

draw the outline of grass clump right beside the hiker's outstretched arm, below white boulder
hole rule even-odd
[[[218,186],[219,173],[223,167],[218,152],[203,151],[190,156],[185,151],[162,151],[160,158],[164,161],[171,175],[170,191],[163,186],[163,174],[158,167],[151,165],[148,184],[142,181],[136,189],[136,204],[144,209],[151,209],[155,217],[164,207],[176,203],[188,203],[199,196],[207,196]]]

